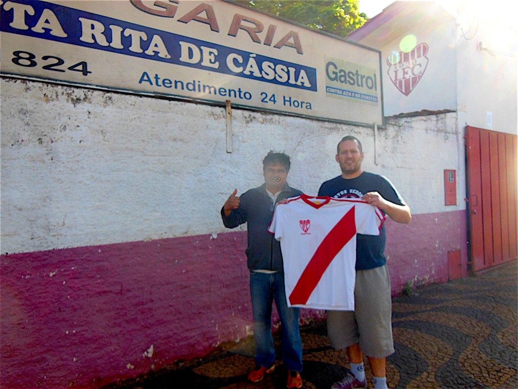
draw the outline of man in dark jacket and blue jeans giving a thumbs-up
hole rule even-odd
[[[299,331],[299,308],[288,308],[284,292],[284,271],[280,243],[268,232],[275,204],[280,200],[301,195],[301,191],[287,185],[290,157],[268,152],[263,160],[265,183],[244,192],[237,189],[221,209],[227,228],[248,223],[248,268],[254,318],[256,367],[248,379],[258,382],[275,369],[274,340],[271,336],[272,303],[275,300],[282,324],[282,360],[288,370],[287,387],[300,388],[302,379],[302,342]]]

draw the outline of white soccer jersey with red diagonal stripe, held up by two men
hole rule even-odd
[[[281,243],[288,306],[353,311],[356,233],[379,235],[384,220],[361,200],[301,195],[278,204],[268,231]]]

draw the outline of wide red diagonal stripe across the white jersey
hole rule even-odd
[[[292,305],[305,304],[318,285],[329,263],[356,234],[354,207],[352,207],[324,238],[300,275],[290,295]]]

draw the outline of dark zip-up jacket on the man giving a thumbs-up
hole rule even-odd
[[[285,185],[277,196],[276,203],[290,197],[300,196],[298,189]],[[282,254],[280,243],[274,234],[268,232],[274,216],[274,204],[266,192],[266,185],[250,189],[240,197],[239,208],[225,217],[221,207],[221,218],[227,228],[235,228],[248,223],[248,247],[245,251],[250,270],[282,271]]]

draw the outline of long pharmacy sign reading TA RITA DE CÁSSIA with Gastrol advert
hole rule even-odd
[[[380,52],[227,1],[0,1],[1,73],[383,124]]]

